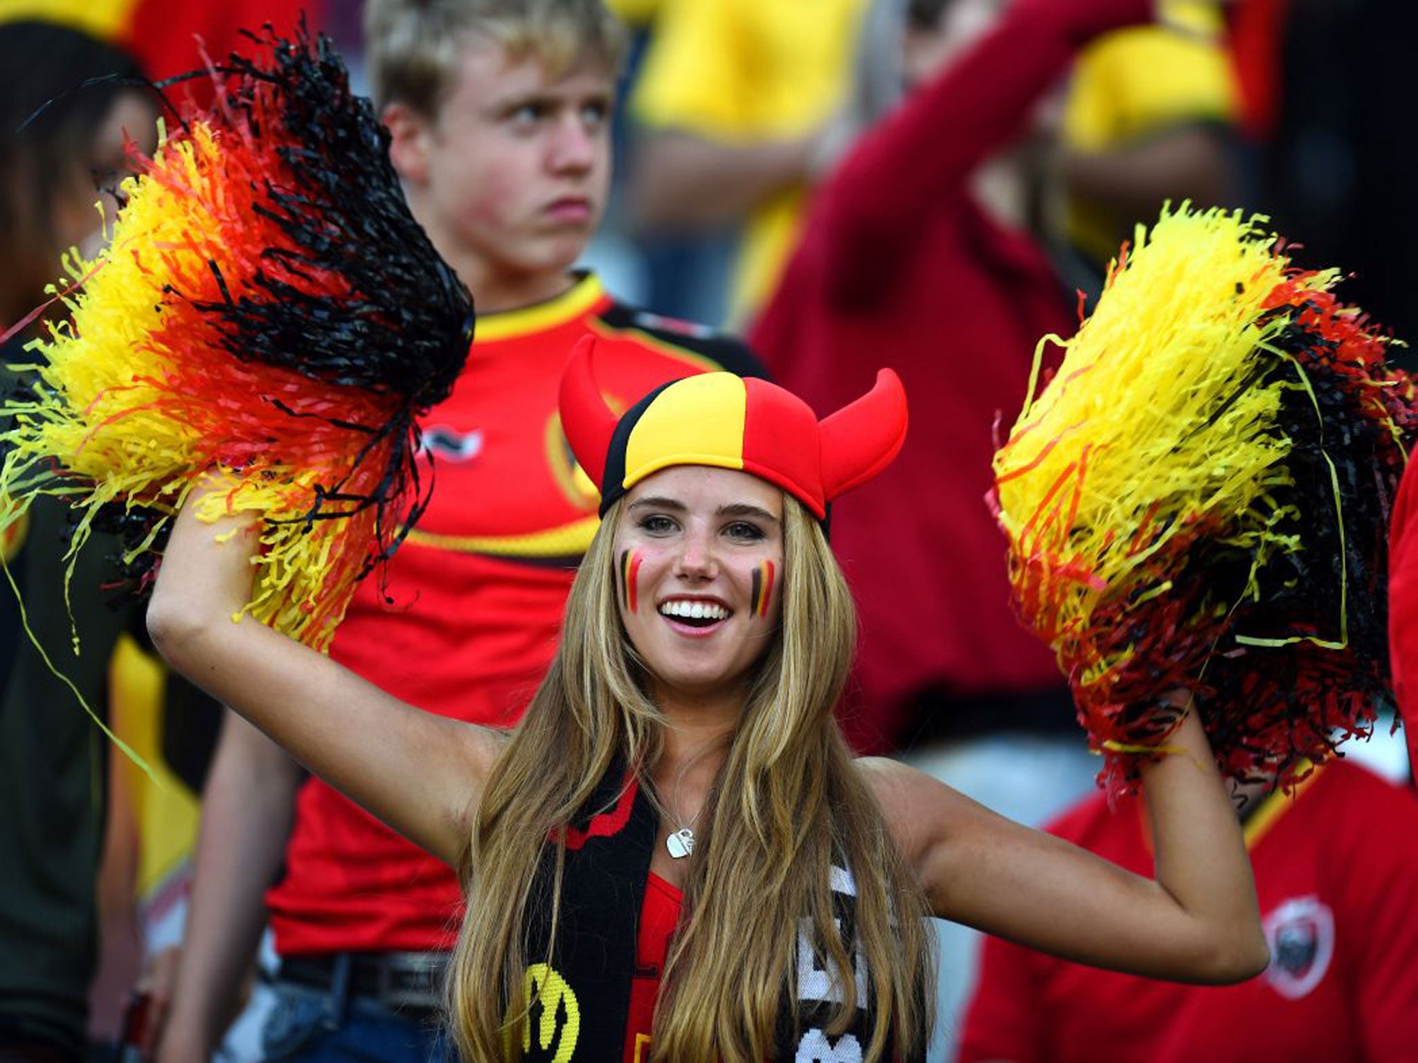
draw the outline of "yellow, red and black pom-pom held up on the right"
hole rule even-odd
[[[1385,530],[1418,404],[1339,275],[1261,223],[1139,230],[995,456],[1020,614],[1115,781],[1188,694],[1225,774],[1282,784],[1390,697]]]

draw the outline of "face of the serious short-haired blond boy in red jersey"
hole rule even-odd
[[[386,113],[414,214],[474,298],[535,292],[580,257],[605,207],[613,91],[598,62],[552,79],[476,38],[434,120]]]

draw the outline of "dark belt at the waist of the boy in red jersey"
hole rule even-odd
[[[323,952],[281,958],[277,978],[346,999],[434,1012],[442,1005],[448,952]]]

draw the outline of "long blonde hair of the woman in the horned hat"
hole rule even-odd
[[[645,694],[615,605],[620,507],[581,563],[560,649],[488,780],[459,862],[468,911],[448,1008],[469,1063],[516,1057],[522,1043],[527,894],[547,838],[583,809],[613,764],[634,765],[648,785],[662,748],[665,721]],[[855,646],[855,608],[821,529],[787,496],[783,568],[783,622],[754,668],[696,832],[655,1012],[654,1060],[771,1057],[777,1019],[794,995],[804,918],[842,989],[827,1032],[851,1025],[856,979],[852,943],[834,923],[834,862],[856,882],[856,935],[876,1009],[864,1059],[925,1049],[933,996],[926,900],[832,719]],[[553,897],[563,856],[557,848]]]

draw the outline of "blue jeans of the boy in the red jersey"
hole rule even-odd
[[[359,996],[277,982],[261,1030],[265,1063],[452,1063],[455,1053],[432,1018],[400,1015]]]

